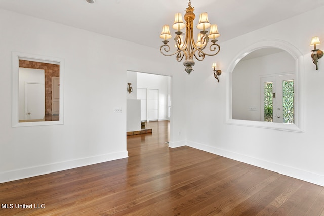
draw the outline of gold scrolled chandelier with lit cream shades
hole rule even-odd
[[[185,71],[190,74],[193,70],[192,66],[194,66],[194,60],[203,61],[205,56],[215,56],[220,51],[220,46],[216,44],[217,37],[220,36],[217,30],[217,25],[211,25],[208,21],[207,12],[203,12],[199,16],[199,23],[197,25],[197,29],[201,30],[197,35],[197,42],[194,41],[193,37],[193,20],[196,17],[193,13],[194,8],[191,7],[191,0],[189,0],[188,8],[186,8],[186,14],[184,15],[184,20],[182,20],[182,14],[176,13],[175,20],[172,25],[172,28],[177,30],[175,32],[175,48],[176,51],[174,53],[169,54],[168,52],[171,50],[168,45],[168,39],[172,36],[170,34],[169,25],[164,25],[162,28],[162,33],[160,34],[160,38],[163,39],[163,45],[160,47],[160,52],[165,56],[173,56],[176,55],[177,61],[181,62],[185,57],[183,65],[185,66]],[[181,31],[181,29],[186,28],[185,34]],[[207,29],[210,28],[210,33],[208,34]],[[211,44],[208,47],[208,41],[211,39]],[[205,52],[205,48],[208,47],[209,51]],[[216,49],[217,48],[217,49]]]

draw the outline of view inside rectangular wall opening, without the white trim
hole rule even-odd
[[[19,122],[60,120],[60,65],[19,59]]]

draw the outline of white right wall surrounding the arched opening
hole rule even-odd
[[[190,107],[186,112],[187,145],[324,186],[324,101],[320,99],[324,59],[319,60],[316,71],[309,47],[312,36],[324,39],[324,31],[318,27],[323,24],[323,10],[321,7],[223,42],[216,57],[196,63],[186,79],[186,107]],[[304,133],[225,123],[227,68],[241,50],[264,39],[287,41],[304,55]],[[223,72],[219,83],[210,69],[213,61]]]

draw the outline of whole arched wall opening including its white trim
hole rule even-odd
[[[226,123],[303,132],[303,55],[285,41],[264,40],[229,67]]]

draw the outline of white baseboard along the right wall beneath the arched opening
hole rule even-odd
[[[207,146],[207,145],[192,142],[192,141],[187,141],[186,145],[189,147],[195,148],[195,149],[199,149],[199,150],[206,151],[206,152],[209,152],[212,154],[220,155],[220,156],[223,156],[226,158],[230,158],[230,159],[237,160],[237,161],[240,161],[243,163],[254,165],[254,166],[264,168],[264,169],[267,169],[270,171],[274,171],[274,172],[277,172],[277,173],[285,175],[285,176],[290,176],[290,177],[300,179],[300,180],[303,180],[306,182],[310,182],[310,183],[313,183],[316,185],[324,186],[324,176],[315,174],[313,172],[309,172],[306,170],[301,170],[301,169],[297,169],[294,167],[285,166],[285,165],[261,160],[258,158],[253,158],[253,157],[250,157],[247,155],[230,152],[230,151],[227,151],[224,149],[219,149],[219,148]]]

